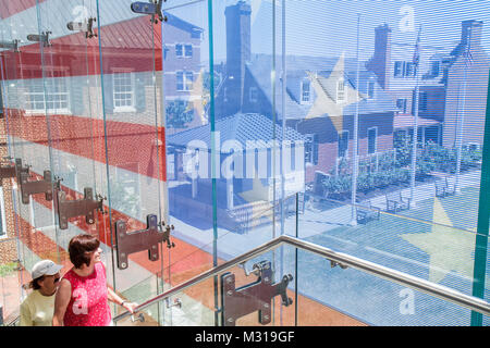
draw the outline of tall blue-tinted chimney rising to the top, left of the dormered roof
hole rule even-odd
[[[250,60],[250,13],[245,1],[226,7],[226,96],[228,110],[238,112],[243,105],[245,63]]]

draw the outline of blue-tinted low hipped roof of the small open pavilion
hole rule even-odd
[[[270,141],[275,133],[275,139],[282,140],[282,127],[275,125],[268,117],[257,113],[237,113],[229,117],[218,120],[215,132],[219,132],[220,146],[226,140],[236,140],[245,149],[247,141],[256,141],[257,148],[270,147]],[[284,130],[286,140],[305,140],[305,137],[291,127]],[[175,147],[187,147],[193,140],[201,140],[207,149],[211,148],[211,125],[186,129],[168,136],[167,144]],[[196,149],[199,146],[196,146]]]

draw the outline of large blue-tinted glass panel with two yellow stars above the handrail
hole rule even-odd
[[[488,298],[488,215],[479,212],[487,5],[279,2],[286,122],[319,141],[318,162],[310,146],[305,156],[298,234],[366,258],[382,250],[375,262]],[[298,95],[305,78],[308,105]]]

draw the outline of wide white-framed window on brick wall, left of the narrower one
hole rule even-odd
[[[58,83],[59,80],[63,80],[63,85],[64,85],[64,89],[63,91],[58,91],[58,92],[49,92],[49,86],[47,86],[45,84],[45,82],[42,80],[42,78],[37,78],[37,79],[32,79],[30,82],[34,83],[40,83],[41,84],[41,91],[32,91],[32,87],[35,87],[33,85],[27,85],[26,86],[26,97],[27,97],[27,101],[25,103],[25,113],[26,115],[33,115],[33,114],[72,114],[72,111],[70,109],[70,89],[66,86],[66,79],[68,77],[58,77],[58,78],[51,78],[53,84],[61,84]],[[48,89],[48,90],[47,90]],[[42,100],[39,101],[32,101],[32,97],[34,96],[41,96]],[[59,96],[59,97],[64,97],[66,100],[66,108],[48,108],[47,103],[49,101],[47,101],[47,96]],[[42,103],[41,108],[37,108],[37,103]],[[34,105],[34,108],[32,108]]]

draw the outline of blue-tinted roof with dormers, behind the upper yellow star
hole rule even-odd
[[[275,76],[281,76],[281,57],[277,58],[277,72]],[[332,73],[335,63],[339,58],[323,58],[323,57],[302,57],[302,55],[286,55],[286,97],[285,97],[285,119],[286,120],[301,120],[304,119],[311,104],[302,104],[299,102],[299,92],[295,90],[292,84],[295,84],[299,88],[299,82],[307,78],[307,72],[317,73],[319,76],[329,77]],[[278,63],[279,62],[279,63]],[[270,79],[270,71],[272,66],[272,58],[269,54],[255,54],[250,62],[247,63],[247,69],[252,76],[256,80],[257,85],[264,91],[266,97],[272,99],[272,84]],[[344,62],[344,78],[351,84],[353,88],[356,88],[356,76],[357,76],[357,61],[355,59],[345,58]],[[367,86],[368,80],[373,80],[375,87],[375,99],[372,100],[362,100],[359,102],[359,113],[387,113],[397,111],[392,97],[387,94],[376,82],[376,75],[368,72],[364,67],[364,62],[359,62],[359,91],[365,92],[367,87],[363,87],[364,84]],[[281,101],[281,84],[278,78],[278,87],[275,88],[275,98]],[[280,107],[277,110],[278,117],[282,119]],[[352,103],[344,109],[344,114],[354,114],[356,110],[356,103]]]

